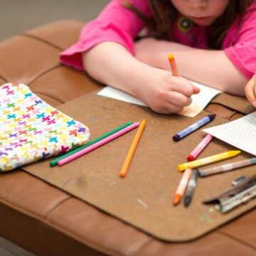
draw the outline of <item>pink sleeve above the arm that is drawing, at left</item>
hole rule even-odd
[[[82,53],[99,43],[112,41],[120,43],[134,54],[134,38],[144,28],[144,22],[132,11],[121,6],[124,0],[112,0],[101,14],[87,23],[80,33],[77,43],[60,53],[60,61],[65,65],[84,69]],[[130,0],[139,11],[150,15],[149,4],[145,0]]]

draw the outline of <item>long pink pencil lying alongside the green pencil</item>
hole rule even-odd
[[[57,164],[58,164],[58,166],[63,166],[64,164],[68,164],[70,161],[73,161],[73,160],[77,159],[78,157],[83,156],[84,154],[87,154],[90,151],[107,144],[107,142],[111,142],[112,140],[117,139],[118,137],[122,136],[123,134],[126,134],[129,131],[132,131],[132,129],[135,129],[138,126],[139,126],[139,122],[131,124],[128,127],[125,127],[124,129],[120,130],[119,132],[115,132],[114,134],[110,135],[109,137],[106,137],[105,139],[100,140],[100,142],[96,142],[95,144],[92,144],[91,146],[87,146],[87,148],[85,148],[85,149],[81,149],[80,151],[77,151],[74,154],[65,157],[64,159],[59,160],[57,162]]]

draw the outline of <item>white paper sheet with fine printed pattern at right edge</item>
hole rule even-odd
[[[256,112],[203,132],[256,156]]]

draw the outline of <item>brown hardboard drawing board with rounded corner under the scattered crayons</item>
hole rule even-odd
[[[251,200],[223,214],[201,203],[229,188],[234,178],[242,174],[252,176],[253,171],[255,173],[253,166],[198,178],[191,206],[185,208],[183,202],[173,206],[174,193],[182,176],[177,165],[186,162],[188,154],[206,134],[198,130],[180,142],[173,142],[172,137],[205,117],[207,112],[201,112],[193,119],[176,114],[161,115],[146,107],[95,94],[85,95],[58,108],[87,124],[91,139],[126,122],[146,119],[146,128],[127,177],[119,178],[119,171],[137,130],[65,166],[50,167],[49,162],[53,159],[48,159],[23,166],[23,169],[155,238],[173,242],[193,240],[256,206],[256,201]],[[225,119],[216,117],[206,127],[224,122]],[[198,159],[233,149],[233,146],[213,139]],[[242,153],[235,159],[223,161],[223,164],[247,157],[251,157],[250,154]]]

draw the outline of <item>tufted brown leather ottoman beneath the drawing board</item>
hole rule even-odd
[[[0,43],[0,83],[23,82],[50,105],[102,85],[59,63],[83,23],[59,21]],[[217,103],[209,112],[241,114]],[[36,255],[256,255],[255,210],[191,242],[156,240],[31,174],[0,174],[0,236]]]

